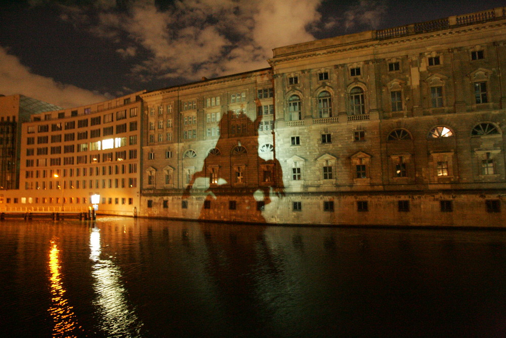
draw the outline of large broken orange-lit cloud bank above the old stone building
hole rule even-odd
[[[386,12],[382,3],[361,0],[322,22],[323,1],[177,0],[160,7],[155,0],[96,0],[60,9],[63,20],[117,44],[118,55],[133,62],[133,79],[194,81],[268,67],[273,48],[316,40],[314,32],[338,25],[376,28]]]

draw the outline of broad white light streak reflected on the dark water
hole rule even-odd
[[[99,315],[99,328],[108,336],[139,336],[142,322],[128,302],[128,292],[122,286],[120,269],[110,259],[101,259],[100,229],[90,234],[90,259],[94,262],[94,301]]]

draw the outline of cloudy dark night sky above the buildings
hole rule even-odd
[[[268,67],[272,48],[506,6],[502,1],[0,2],[0,94],[80,106]]]

